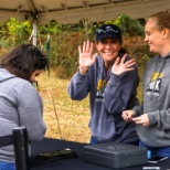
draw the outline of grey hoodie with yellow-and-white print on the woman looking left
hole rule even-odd
[[[148,114],[149,126],[138,125],[137,132],[148,147],[170,146],[170,54],[156,55],[144,73],[144,103],[136,116]]]

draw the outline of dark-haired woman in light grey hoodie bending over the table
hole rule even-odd
[[[32,83],[46,63],[46,56],[30,44],[19,45],[1,59],[0,136],[11,135],[21,126],[28,129],[29,141],[44,137],[43,102]],[[15,169],[13,146],[0,148],[0,169]]]

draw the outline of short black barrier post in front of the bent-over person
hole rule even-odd
[[[28,131],[25,127],[12,130],[17,170],[29,170]]]

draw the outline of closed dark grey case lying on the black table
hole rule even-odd
[[[148,161],[146,148],[118,142],[84,146],[83,158],[84,161],[109,168],[126,168]]]

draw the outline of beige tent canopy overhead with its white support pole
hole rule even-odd
[[[75,23],[82,19],[106,21],[120,13],[139,19],[169,10],[170,0],[0,0],[0,21],[11,17],[20,21],[31,20],[33,44],[36,45],[36,23],[50,20]]]

